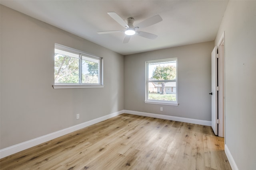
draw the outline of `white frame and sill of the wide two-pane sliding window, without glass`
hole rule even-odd
[[[64,45],[56,44],[54,46],[54,50],[59,49],[62,51],[67,51],[70,53],[78,54],[79,55],[79,83],[55,83],[54,79],[54,89],[58,88],[103,88],[103,58],[94,56],[89,53],[85,53],[83,51],[79,51],[76,49],[72,49],[70,47],[66,47]],[[99,70],[98,70],[98,78],[99,78],[99,83],[94,84],[94,83],[81,83],[82,81],[82,56],[86,56],[92,59],[99,60]],[[55,61],[54,61],[55,62]]]

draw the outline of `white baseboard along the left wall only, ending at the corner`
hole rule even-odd
[[[66,135],[68,133],[71,133],[71,132],[77,131],[79,129],[88,127],[88,126],[93,125],[95,123],[98,123],[100,121],[104,121],[104,120],[109,119],[111,117],[115,117],[115,116],[120,115],[122,113],[124,113],[123,110],[115,112],[115,113],[111,113],[109,115],[105,115],[105,116],[102,116],[102,117],[99,117],[99,118],[96,118],[96,119],[93,119],[93,120],[90,120],[90,121],[86,121],[84,123],[80,123],[78,125],[74,125],[72,127],[68,127],[66,129],[62,129],[60,131],[50,133],[48,135],[37,137],[35,139],[31,139],[29,141],[25,141],[25,142],[19,143],[17,145],[13,145],[13,146],[1,149],[0,150],[0,159],[4,158],[6,156],[9,156],[11,154],[20,152],[22,150],[34,147],[36,145],[40,145],[42,143],[45,143],[45,142],[50,141],[52,139],[55,139],[57,137],[61,137],[61,136]]]

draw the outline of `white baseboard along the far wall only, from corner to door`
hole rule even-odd
[[[185,117],[160,115],[160,114],[146,113],[146,112],[140,112],[140,111],[131,111],[131,110],[124,110],[124,113],[132,114],[132,115],[154,117],[154,118],[159,118],[159,119],[173,120],[173,121],[181,121],[181,122],[186,122],[186,123],[194,123],[194,124],[198,124],[198,125],[212,126],[212,122],[206,121],[206,120],[190,119],[190,118],[185,118]]]

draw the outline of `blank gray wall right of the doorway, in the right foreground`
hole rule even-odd
[[[225,31],[226,146],[240,170],[256,167],[256,1],[229,1]]]

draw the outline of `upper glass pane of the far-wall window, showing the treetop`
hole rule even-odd
[[[176,61],[148,63],[148,80],[176,80]]]

